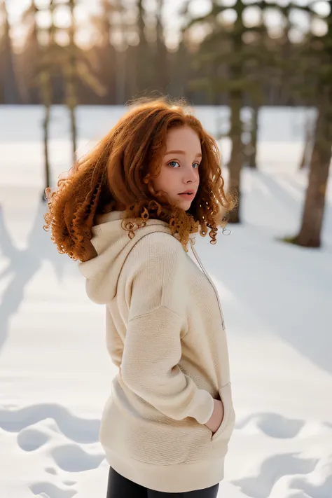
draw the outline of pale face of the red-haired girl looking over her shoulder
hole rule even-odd
[[[198,134],[189,126],[171,128],[167,132],[160,174],[153,181],[155,191],[167,193],[172,205],[187,211],[200,184],[201,160]]]

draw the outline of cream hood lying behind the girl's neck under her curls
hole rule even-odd
[[[123,212],[97,216],[97,224],[92,227],[92,246],[97,256],[78,263],[78,269],[86,278],[88,297],[98,304],[109,303],[116,296],[118,277],[125,260],[139,240],[153,232],[165,232],[172,235],[168,223],[151,219],[146,226],[134,230],[134,237],[130,239],[127,230],[122,227]],[[133,221],[127,219],[126,221]]]

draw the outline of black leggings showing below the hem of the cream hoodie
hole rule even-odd
[[[188,491],[186,493],[163,493],[148,490],[146,487],[132,483],[131,480],[120,476],[112,467],[109,469],[109,485],[106,498],[216,498],[219,484],[208,487],[206,490]]]

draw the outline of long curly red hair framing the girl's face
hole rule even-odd
[[[187,212],[172,207],[165,193],[153,189],[167,131],[184,125],[195,130],[202,146],[200,186]],[[139,101],[76,162],[67,177],[59,179],[57,190],[46,189],[44,228],[52,231],[60,253],[80,261],[92,255],[91,228],[96,216],[113,210],[125,212],[123,228],[130,237],[133,227],[140,226],[134,221],[160,219],[169,223],[185,249],[189,235],[198,230],[202,236],[209,232],[214,244],[218,226],[223,226],[226,213],[235,205],[234,198],[224,192],[220,162],[216,142],[186,104],[165,99]]]

